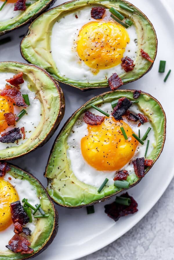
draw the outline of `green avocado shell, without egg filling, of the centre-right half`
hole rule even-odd
[[[79,181],[70,167],[70,160],[67,158],[67,138],[68,134],[79,116],[91,108],[91,104],[99,105],[104,102],[112,102],[121,97],[133,99],[133,90],[117,90],[106,92],[96,96],[81,106],[66,122],[57,136],[50,152],[48,164],[46,166],[45,177],[48,180],[47,191],[51,198],[60,206],[78,208],[88,206],[99,201],[104,201],[126,189],[113,185],[105,186],[102,192],[98,193],[97,187],[87,185]],[[152,159],[153,164],[160,156],[166,137],[166,115],[161,104],[150,94],[142,92],[138,98],[138,109],[148,117],[155,133],[156,147],[146,157]],[[78,163],[78,162],[77,162]],[[153,166],[153,165],[152,165]],[[152,167],[151,166],[151,167]],[[151,169],[147,167],[145,174]],[[127,177],[130,187],[133,187],[142,178],[138,178],[135,173]],[[62,188],[63,187],[63,188]]]

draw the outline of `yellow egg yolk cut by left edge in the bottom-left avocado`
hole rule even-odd
[[[11,225],[10,204],[18,200],[14,187],[8,181],[0,179],[0,231]]]

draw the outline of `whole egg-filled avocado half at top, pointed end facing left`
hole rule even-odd
[[[98,18],[93,9],[97,7],[104,10]],[[151,62],[142,57],[141,49]],[[59,82],[81,90],[107,87],[113,73],[122,84],[137,80],[152,67],[156,53],[153,25],[124,0],[64,3],[33,21],[21,41],[24,59],[45,68]],[[133,62],[126,71],[122,57]]]

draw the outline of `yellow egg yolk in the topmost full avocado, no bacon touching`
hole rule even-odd
[[[111,68],[121,63],[129,41],[128,32],[123,26],[114,22],[93,21],[81,28],[77,52],[90,68]]]

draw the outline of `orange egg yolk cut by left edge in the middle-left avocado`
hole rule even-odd
[[[13,113],[13,102],[0,95],[0,132],[8,127],[4,113]]]

